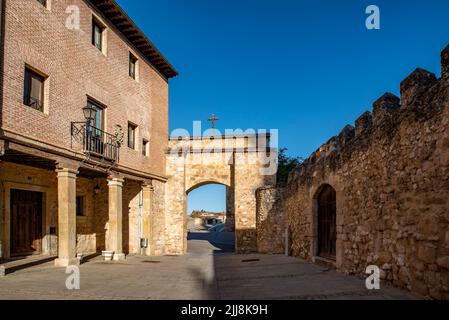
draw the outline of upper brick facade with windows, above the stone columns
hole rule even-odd
[[[80,9],[80,30],[69,30],[66,8]],[[92,45],[92,19],[106,26],[106,49]],[[158,177],[165,175],[168,135],[168,81],[101,12],[83,0],[6,1],[2,129],[5,135],[71,149],[71,121],[84,121],[88,97],[104,105],[105,126],[121,125],[125,143],[119,166]],[[129,55],[138,58],[138,80],[129,76]],[[47,77],[44,112],[23,104],[25,66]],[[136,124],[136,147],[127,146],[128,122]],[[142,155],[142,139],[150,143]]]

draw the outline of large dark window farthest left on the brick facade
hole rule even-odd
[[[45,77],[25,68],[23,103],[33,109],[44,111]]]

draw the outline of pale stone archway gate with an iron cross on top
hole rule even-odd
[[[187,252],[187,195],[209,183],[227,187],[237,253],[257,251],[256,190],[276,183],[269,134],[171,138],[167,150],[166,253]]]

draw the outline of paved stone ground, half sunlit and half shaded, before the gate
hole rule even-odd
[[[209,242],[216,237],[191,234],[183,257],[95,258],[80,267],[77,291],[52,263],[17,271],[0,278],[0,299],[413,299],[393,288],[370,292],[361,279],[296,258],[233,255],[228,243]]]

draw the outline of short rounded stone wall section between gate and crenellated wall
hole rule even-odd
[[[282,188],[264,187],[256,192],[257,251],[285,252],[285,215]]]

